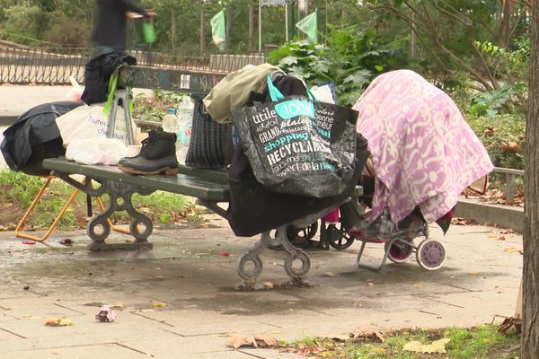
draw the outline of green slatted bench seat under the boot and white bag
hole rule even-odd
[[[198,197],[208,201],[227,202],[229,199],[228,186],[222,179],[201,180],[183,173],[177,176],[135,176],[119,171],[116,166],[85,165],[65,159],[44,160],[43,167],[48,170],[81,174],[99,180],[116,180],[130,185]],[[224,179],[226,179],[226,175]]]

